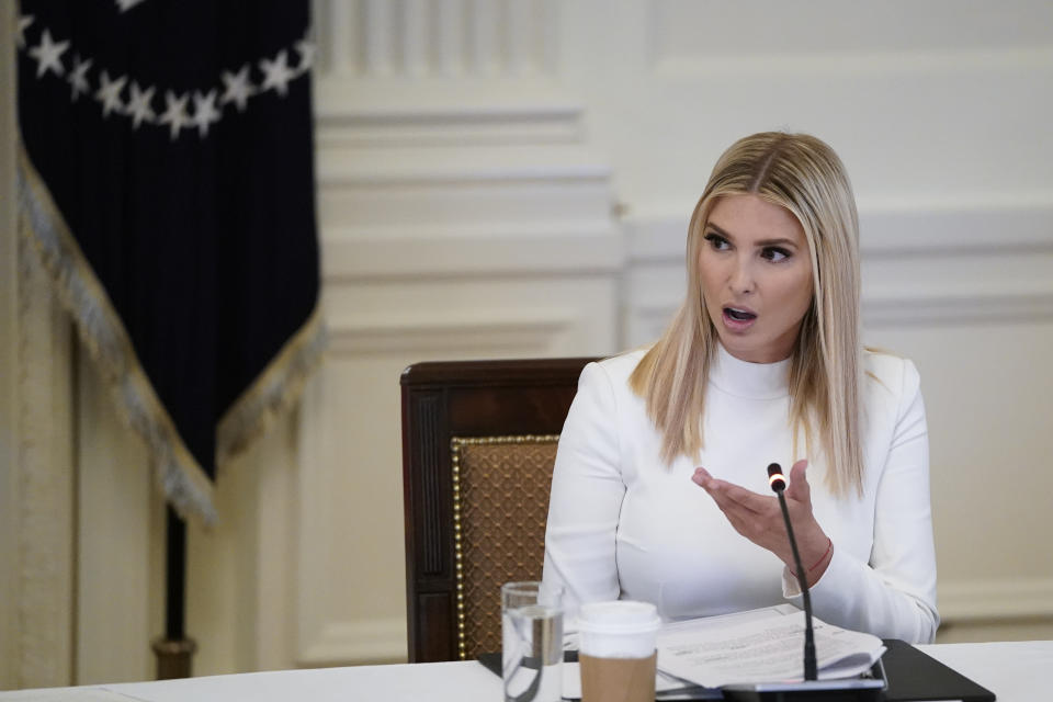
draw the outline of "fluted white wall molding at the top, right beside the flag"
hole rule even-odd
[[[316,0],[319,150],[581,138],[555,0]]]

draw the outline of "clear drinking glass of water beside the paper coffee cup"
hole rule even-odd
[[[501,586],[505,702],[563,697],[563,588],[536,581]]]

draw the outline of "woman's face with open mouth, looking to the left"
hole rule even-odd
[[[705,308],[736,359],[790,356],[812,304],[812,258],[801,223],[757,195],[722,195],[699,251]]]

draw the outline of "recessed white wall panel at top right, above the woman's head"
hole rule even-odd
[[[728,32],[749,14],[700,3],[648,3],[650,60],[663,77],[790,75],[809,78],[925,73],[988,73],[1053,66],[1048,4],[1009,0],[997,18],[981,5],[933,0],[919,10],[908,0],[860,8],[822,3],[824,22],[783,3],[763,3],[763,22]],[[814,8],[818,10],[818,8]],[[914,18],[904,31],[905,14]],[[954,16],[958,32],[933,32]],[[967,29],[965,29],[967,27]]]

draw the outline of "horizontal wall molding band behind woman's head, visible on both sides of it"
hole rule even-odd
[[[1053,319],[1053,202],[886,207],[860,214],[868,328]],[[689,215],[625,222],[632,342],[680,305]],[[656,290],[657,270],[677,274]]]

